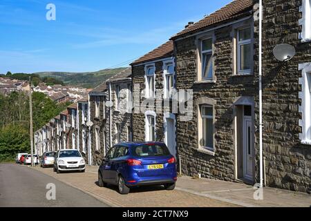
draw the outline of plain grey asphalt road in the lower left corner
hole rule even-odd
[[[48,200],[47,184],[55,184],[55,200]],[[0,206],[108,206],[99,200],[18,164],[0,164]]]

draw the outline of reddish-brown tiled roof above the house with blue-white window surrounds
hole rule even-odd
[[[133,61],[131,65],[140,64],[142,62],[153,61],[164,57],[173,57],[173,41],[167,41],[158,48],[151,50],[146,55]]]

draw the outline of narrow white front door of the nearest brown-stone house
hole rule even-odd
[[[253,180],[253,131],[252,117],[243,118],[243,174],[248,180]]]

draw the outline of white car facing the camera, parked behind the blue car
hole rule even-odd
[[[59,150],[55,154],[54,172],[62,171],[85,171],[85,160],[81,153],[74,149]]]

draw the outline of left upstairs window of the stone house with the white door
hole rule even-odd
[[[213,39],[201,41],[202,80],[213,79]]]

